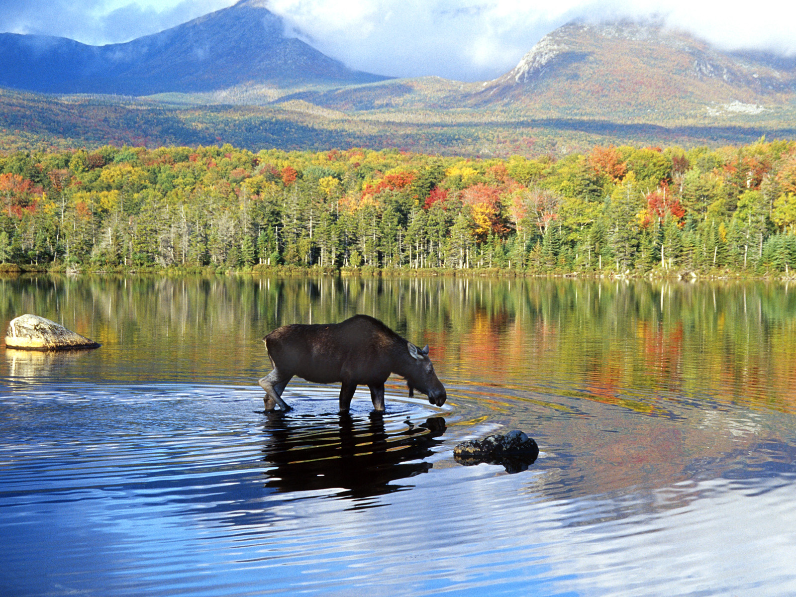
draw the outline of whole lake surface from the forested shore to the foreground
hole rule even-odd
[[[24,313],[102,347],[0,357],[2,595],[796,594],[786,284],[0,279]],[[356,313],[447,403],[263,412],[263,336]],[[455,460],[512,429],[526,470]]]

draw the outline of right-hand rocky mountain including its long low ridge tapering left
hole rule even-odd
[[[532,119],[724,125],[787,124],[796,106],[796,59],[728,53],[659,23],[571,22],[544,36],[497,79],[462,84],[435,77],[304,90],[303,100],[342,111],[466,109]]]

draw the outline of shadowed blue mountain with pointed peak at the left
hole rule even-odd
[[[242,0],[124,44],[0,34],[0,86],[49,93],[145,96],[240,84],[363,84],[388,77],[353,71],[284,33],[263,0]]]

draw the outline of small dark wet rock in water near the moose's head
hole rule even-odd
[[[504,466],[509,473],[519,473],[536,462],[539,446],[536,440],[515,430],[505,435],[488,435],[481,441],[462,442],[454,448],[453,455],[456,462],[465,466],[488,462]]]

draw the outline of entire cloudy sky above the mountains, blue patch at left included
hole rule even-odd
[[[723,49],[796,54],[796,3],[783,0],[263,0],[291,34],[351,68],[388,76],[490,80],[574,18],[656,15]],[[0,0],[0,31],[102,45],[130,41],[235,0]],[[753,7],[753,10],[752,10]]]

